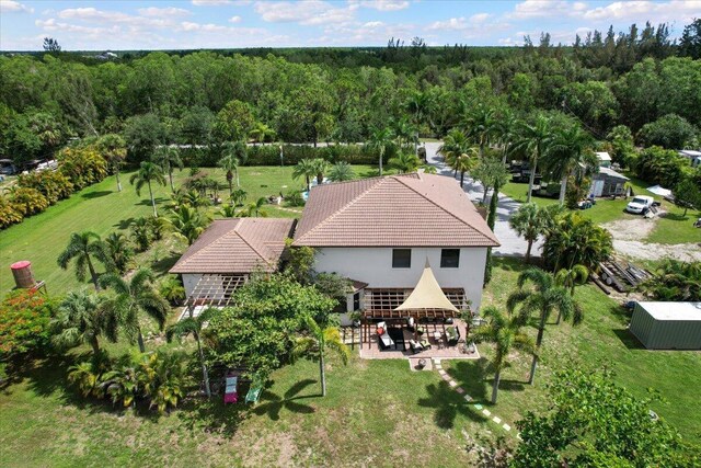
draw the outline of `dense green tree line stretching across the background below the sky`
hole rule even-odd
[[[440,136],[482,104],[517,114],[558,110],[596,138],[633,135],[660,117],[692,132],[701,117],[699,20],[679,46],[667,25],[574,46],[149,53],[97,62],[76,54],[0,57],[0,156],[22,163],[73,137],[118,133],[134,162],[166,142],[366,141],[375,130]],[[685,122],[686,121],[686,122]],[[685,127],[687,128],[687,127]],[[645,142],[650,132],[640,136]],[[675,141],[677,144],[677,141]]]

